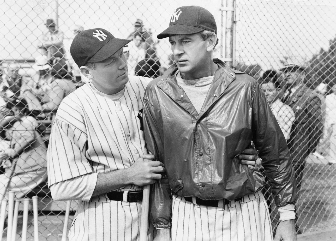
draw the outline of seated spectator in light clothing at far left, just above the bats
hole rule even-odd
[[[46,147],[36,130],[36,119],[28,116],[27,102],[13,97],[7,107],[13,116],[0,123],[0,136],[9,143],[0,152],[0,163],[5,165],[5,173],[0,175],[0,198],[14,191],[21,199],[47,178]]]

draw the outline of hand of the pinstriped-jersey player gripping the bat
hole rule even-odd
[[[156,180],[159,180],[162,177],[160,172],[165,171],[162,162],[144,162],[141,157],[127,169],[129,172],[129,177],[131,178],[131,183],[138,186],[155,183]]]

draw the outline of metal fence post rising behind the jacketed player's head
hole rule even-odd
[[[232,68],[233,66],[233,46],[234,46],[234,13],[235,0],[226,0],[226,7],[222,7],[221,11],[226,12],[225,17],[225,55],[223,61]]]

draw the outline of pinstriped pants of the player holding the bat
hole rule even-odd
[[[79,201],[69,240],[139,240],[141,203]],[[153,239],[153,230],[149,224],[149,240]]]

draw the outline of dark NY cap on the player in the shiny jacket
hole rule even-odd
[[[157,36],[158,39],[167,38],[169,35],[196,34],[203,30],[217,33],[214,16],[200,6],[178,7],[169,21],[169,27]]]

